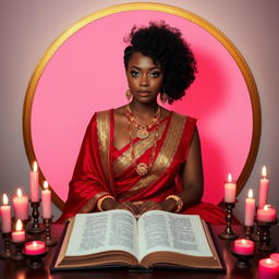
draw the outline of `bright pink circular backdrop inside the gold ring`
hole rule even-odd
[[[236,180],[252,141],[252,106],[243,75],[228,50],[198,25],[159,11],[129,11],[96,20],[75,32],[46,65],[32,105],[35,156],[65,201],[85,129],[93,113],[126,104],[123,37],[134,24],[165,20],[179,27],[197,60],[198,74],[182,101],[168,108],[198,119],[204,201],[219,203],[229,172]]]

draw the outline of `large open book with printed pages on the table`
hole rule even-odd
[[[78,214],[69,223],[52,270],[130,266],[223,269],[197,215],[161,210]]]

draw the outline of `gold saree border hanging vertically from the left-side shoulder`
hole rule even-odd
[[[110,111],[97,113],[97,133],[100,148],[100,160],[107,182],[111,185],[111,173],[109,163],[109,141],[110,141]]]

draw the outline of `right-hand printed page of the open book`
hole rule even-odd
[[[140,260],[159,251],[213,256],[199,216],[153,210],[138,220]]]

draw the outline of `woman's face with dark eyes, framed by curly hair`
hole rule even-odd
[[[153,102],[162,85],[162,70],[153,59],[134,52],[126,69],[129,88],[133,98],[140,102]]]

